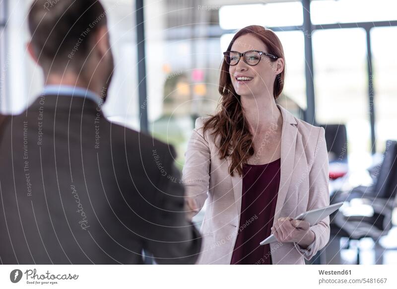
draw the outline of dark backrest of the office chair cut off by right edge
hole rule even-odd
[[[383,162],[375,183],[375,197],[391,198],[396,195],[397,187],[397,142],[387,141]]]

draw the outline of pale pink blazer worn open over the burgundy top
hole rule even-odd
[[[277,107],[281,111],[283,125],[280,185],[274,220],[296,217],[330,203],[324,129],[296,119],[281,106]],[[233,177],[228,173],[230,159],[219,158],[218,140],[214,139],[211,131],[206,131],[203,136],[205,120],[199,118],[196,121],[185,154],[182,179],[186,195],[196,199],[200,209],[206,201],[201,224],[203,243],[197,264],[230,264],[240,229],[242,178],[237,173]],[[312,258],[330,238],[329,217],[311,229],[315,240],[306,250],[297,243],[271,243],[272,264],[305,264],[304,258]]]

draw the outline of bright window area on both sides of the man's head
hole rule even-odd
[[[0,5],[3,3],[1,1]],[[3,43],[3,30],[0,28],[0,44],[2,47],[6,45],[8,51],[4,56],[1,47],[1,75],[4,75],[4,64],[7,64],[7,77],[1,78],[1,89],[3,82],[7,85],[6,94],[2,95],[7,98],[2,101],[1,109],[7,113],[24,110],[43,88],[42,72],[30,59],[25,47],[30,37],[26,22],[30,3],[26,1],[22,5],[18,1],[9,1],[7,43]],[[134,1],[103,0],[102,3],[107,10],[116,66],[104,113],[113,121],[138,128]]]

